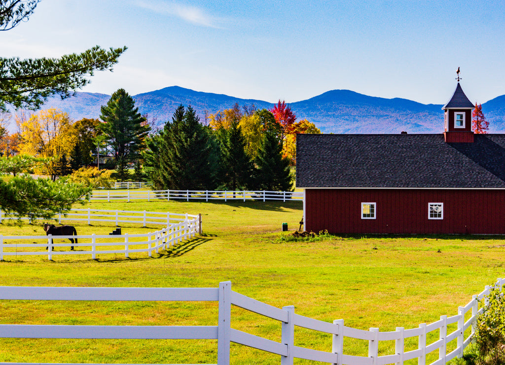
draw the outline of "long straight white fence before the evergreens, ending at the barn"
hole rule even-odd
[[[222,190],[94,190],[91,200],[295,200],[302,201],[299,191],[222,191]]]

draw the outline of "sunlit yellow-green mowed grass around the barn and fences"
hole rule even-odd
[[[204,235],[152,258],[109,254],[91,260],[90,255],[55,255],[50,262],[47,256],[8,256],[0,263],[0,282],[4,286],[217,287],[230,280],[232,290],[276,307],[292,304],[300,315],[327,322],[344,319],[346,326],[364,330],[394,331],[456,315],[458,306],[472,294],[504,275],[502,236],[281,240],[283,222],[290,231],[298,228],[301,205],[293,201],[90,203],[95,209],[201,213]],[[104,234],[115,228],[72,224],[79,234]],[[157,228],[122,225],[123,233],[131,234]],[[44,234],[40,225],[4,223],[0,230],[3,235]],[[2,324],[217,324],[213,302],[4,300],[0,311]],[[280,341],[280,323],[240,308],[232,309],[232,327]],[[438,338],[438,333],[430,338]],[[331,335],[297,328],[295,345],[331,351]],[[368,341],[345,339],[344,352],[367,356],[367,346]],[[406,341],[406,350],[416,347],[417,341]],[[379,352],[393,353],[394,343],[381,343]],[[216,363],[217,341],[0,339],[1,361]],[[278,364],[280,359],[232,344],[231,363]]]

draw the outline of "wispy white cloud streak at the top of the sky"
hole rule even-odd
[[[203,27],[221,28],[220,23],[223,22],[223,19],[207,14],[203,9],[197,7],[156,0],[138,0],[135,4],[140,8],[176,16],[191,24]]]

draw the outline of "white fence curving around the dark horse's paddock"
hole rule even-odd
[[[10,218],[2,218],[0,212],[0,222],[2,222],[2,219]],[[51,260],[54,255],[88,254],[91,255],[92,259],[95,259],[97,254],[124,253],[125,257],[129,257],[129,254],[134,252],[147,252],[148,256],[151,257],[153,251],[158,253],[160,249],[165,250],[167,247],[170,248],[183,240],[195,237],[196,234],[201,234],[201,215],[76,209],[71,211],[67,217],[59,216],[58,219],[60,223],[63,220],[87,221],[87,224],[92,221],[115,222],[118,226],[119,223],[128,222],[142,223],[144,227],[146,227],[146,224],[161,224],[165,225],[166,228],[155,232],[130,235],[128,233],[123,235],[91,234],[73,236],[0,235],[0,261],[4,260],[4,256],[47,255],[47,258]],[[66,241],[70,238],[77,239],[79,243]],[[59,243],[55,242],[56,239],[59,240]],[[34,240],[44,240],[46,242],[33,243]],[[62,240],[65,240],[65,242],[60,243]],[[13,241],[15,243],[10,243]],[[20,241],[26,241],[26,243],[20,243]],[[55,248],[63,247],[77,247],[77,250],[55,250]]]

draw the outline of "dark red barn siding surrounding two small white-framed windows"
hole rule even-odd
[[[505,190],[306,189],[305,229],[330,233],[505,234]],[[376,202],[376,219],[361,203]],[[428,203],[443,202],[443,220]]]

